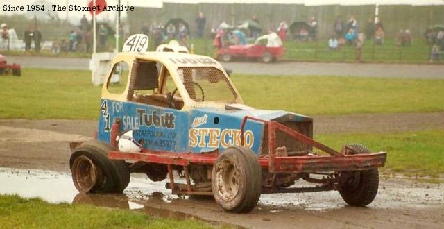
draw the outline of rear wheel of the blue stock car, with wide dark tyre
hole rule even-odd
[[[69,168],[80,193],[122,192],[130,182],[130,171],[124,160],[110,160],[109,144],[97,140],[84,142],[71,154]]]

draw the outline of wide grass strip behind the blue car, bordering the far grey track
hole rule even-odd
[[[234,74],[232,80],[247,105],[268,110],[301,114],[444,110],[444,80],[244,74]],[[89,71],[23,69],[22,77],[0,77],[0,119],[97,119],[100,94],[101,87],[91,84]]]

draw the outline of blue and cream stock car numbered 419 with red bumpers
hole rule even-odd
[[[70,142],[79,192],[123,192],[130,173],[145,173],[167,179],[173,194],[214,196],[228,212],[250,212],[269,193],[337,190],[354,206],[375,198],[385,152],[361,144],[336,151],[312,139],[311,117],[244,105],[213,58],[134,45],[112,61],[95,139]],[[121,65],[128,78],[114,85]]]

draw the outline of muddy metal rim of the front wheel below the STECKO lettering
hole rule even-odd
[[[228,158],[216,170],[216,192],[224,201],[232,201],[239,193],[240,172]]]

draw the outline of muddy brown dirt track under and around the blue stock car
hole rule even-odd
[[[444,112],[354,114],[314,120],[315,133],[444,128]],[[68,142],[90,139],[95,129],[96,121],[0,120],[0,167],[61,171],[65,175],[57,176],[69,176]],[[264,194],[250,214],[228,214],[212,200],[177,198],[164,189],[164,182],[153,183],[140,176],[132,178],[125,194],[140,205],[247,228],[444,228],[444,185],[406,179],[382,179],[377,198],[364,208],[346,206],[337,192]]]

